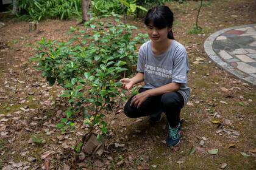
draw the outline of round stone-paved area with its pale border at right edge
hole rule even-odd
[[[219,30],[204,49],[218,67],[256,86],[256,24]]]

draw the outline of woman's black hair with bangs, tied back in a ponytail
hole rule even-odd
[[[158,29],[163,29],[165,27],[172,28],[172,23],[174,21],[173,13],[169,9],[169,7],[165,5],[158,5],[152,7],[150,9],[144,19],[144,24],[149,25],[152,24],[154,27]],[[169,39],[174,39],[172,30],[169,31],[168,36]]]

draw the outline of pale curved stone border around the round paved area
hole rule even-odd
[[[207,53],[208,57],[210,57],[210,59],[213,60],[219,68],[226,70],[227,72],[231,73],[232,75],[239,78],[240,80],[256,87],[256,83],[254,80],[251,80],[251,77],[244,74],[240,70],[234,68],[233,66],[230,66],[229,63],[226,63],[225,61],[223,61],[221,59],[221,57],[217,53],[215,53],[215,51],[213,50],[213,42],[222,33],[225,33],[229,30],[240,29],[242,27],[247,27],[247,26],[251,26],[251,25],[256,25],[256,24],[248,24],[248,25],[239,25],[239,26],[235,26],[235,27],[229,27],[227,29],[222,29],[222,30],[219,30],[219,31],[213,33],[205,40],[204,50]]]

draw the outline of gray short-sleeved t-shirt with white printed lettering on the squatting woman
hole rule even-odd
[[[188,57],[184,46],[172,40],[170,46],[160,55],[151,49],[151,41],[145,42],[139,50],[137,72],[144,73],[144,88],[154,89],[168,83],[180,83],[178,91],[184,98],[184,105],[190,98],[187,86]]]

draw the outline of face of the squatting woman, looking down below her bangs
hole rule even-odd
[[[168,32],[171,30],[171,28],[165,27],[163,29],[158,29],[157,27],[154,27],[153,25],[149,24],[147,26],[147,31],[149,38],[153,42],[163,42],[168,39]]]

